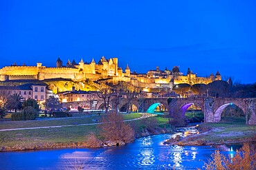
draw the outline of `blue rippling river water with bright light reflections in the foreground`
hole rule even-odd
[[[163,145],[171,136],[147,136],[122,147],[3,152],[0,169],[196,169],[216,150]],[[228,147],[222,152],[230,153]]]

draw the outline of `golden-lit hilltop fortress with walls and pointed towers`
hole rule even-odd
[[[91,80],[97,81],[101,78],[109,78],[113,82],[125,81],[137,87],[146,89],[154,88],[170,88],[175,84],[188,83],[194,85],[197,83],[208,84],[212,81],[221,80],[219,72],[209,77],[197,77],[188,69],[187,75],[179,72],[179,67],[174,66],[172,70],[167,68],[162,71],[156,67],[156,70],[149,70],[147,74],[138,74],[131,72],[128,65],[123,72],[121,67],[118,67],[118,58],[105,59],[104,56],[95,63],[94,59],[90,63],[84,63],[81,60],[76,63],[74,60],[68,60],[66,65],[63,65],[60,57],[57,59],[56,67],[46,67],[42,63],[37,63],[36,66],[6,66],[0,69],[0,81],[8,80],[39,80],[44,81],[53,78],[66,78],[71,81]]]

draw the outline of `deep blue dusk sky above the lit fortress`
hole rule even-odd
[[[123,70],[179,65],[255,83],[255,9],[255,0],[0,0],[0,67],[105,56]]]

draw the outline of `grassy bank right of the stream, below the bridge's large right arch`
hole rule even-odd
[[[223,118],[221,123],[202,123],[200,133],[181,139],[178,145],[215,145],[233,142],[256,142],[256,126],[246,125],[244,118]]]

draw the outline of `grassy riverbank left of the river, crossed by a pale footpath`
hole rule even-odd
[[[141,114],[124,114],[125,120],[140,118]],[[46,127],[56,125],[73,125],[71,127],[56,127],[47,129],[22,129],[15,131],[0,131],[0,151],[25,150],[25,149],[46,149],[57,147],[79,147],[85,146],[86,136],[91,132],[98,134],[97,125],[79,125],[94,123],[92,119],[97,118],[99,122],[102,116],[91,116],[86,118],[65,118],[53,120],[33,120],[0,123],[0,129],[14,129],[21,127]],[[133,120],[127,122],[140,131],[148,127],[147,119]],[[155,116],[156,127],[163,127],[167,119]],[[149,121],[150,122],[150,121]]]

